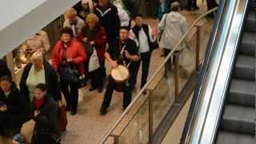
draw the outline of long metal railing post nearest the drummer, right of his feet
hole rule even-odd
[[[150,90],[148,97],[149,101],[149,144],[153,143],[153,103],[152,103],[153,90]]]

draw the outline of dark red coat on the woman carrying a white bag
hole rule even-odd
[[[81,32],[78,35],[78,41],[82,42],[82,39],[86,37],[86,34],[84,32]],[[100,63],[103,63],[105,61],[105,52],[106,52],[106,33],[104,28],[101,26],[99,27],[98,31],[96,34],[93,36],[93,41],[95,42],[95,49],[98,54],[98,61]]]

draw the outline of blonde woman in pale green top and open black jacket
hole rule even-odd
[[[19,87],[27,102],[32,102],[32,92],[38,83],[46,83],[48,92],[56,101],[61,98],[58,74],[48,62],[44,62],[41,52],[32,54],[31,62],[26,65],[22,73]]]

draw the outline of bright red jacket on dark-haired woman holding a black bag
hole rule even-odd
[[[52,65],[54,70],[58,71],[58,66],[62,64],[64,44],[59,40],[54,46],[52,53]],[[75,39],[70,40],[69,46],[66,50],[66,58],[73,58],[74,64],[78,66],[80,74],[84,74],[84,62],[87,60],[86,52],[80,42]]]

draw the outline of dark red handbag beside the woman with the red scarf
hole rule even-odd
[[[66,106],[62,100],[58,101],[58,118],[57,118],[57,129],[66,130],[67,126],[67,116],[66,116]]]

